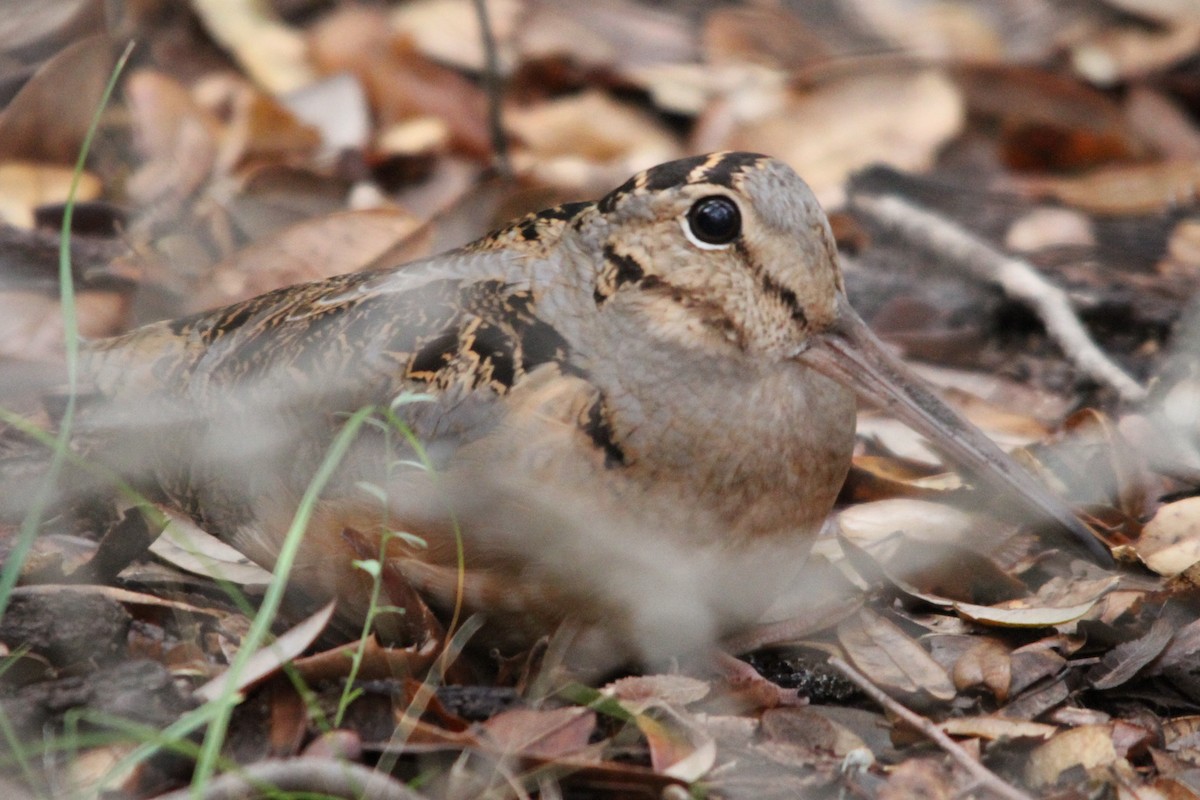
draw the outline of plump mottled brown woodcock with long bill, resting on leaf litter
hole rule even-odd
[[[293,576],[352,614],[368,579],[348,531],[424,539],[391,555],[444,604],[457,527],[480,610],[571,616],[610,656],[710,642],[796,581],[856,393],[1106,555],[877,343],[812,193],[760,155],[666,163],[457,251],[149,325],[90,345],[86,371],[109,463],[268,566],[346,415],[394,408],[436,471],[398,432],[362,433]]]

